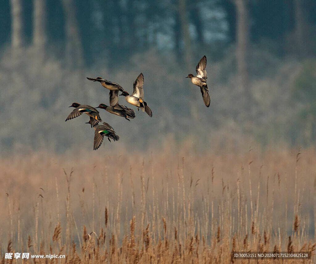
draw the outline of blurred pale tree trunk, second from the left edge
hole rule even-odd
[[[34,4],[34,17],[33,17],[33,44],[40,54],[44,53],[46,44],[46,0],[33,0]]]

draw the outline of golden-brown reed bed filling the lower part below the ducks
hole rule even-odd
[[[231,252],[315,250],[314,148],[100,153],[0,160],[1,263],[248,263]]]

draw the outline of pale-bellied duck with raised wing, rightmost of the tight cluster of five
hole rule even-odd
[[[126,102],[130,103],[131,105],[137,106],[137,110],[139,108],[142,109],[143,112],[146,112],[150,117],[153,116],[153,113],[147,103],[144,101],[144,75],[140,73],[136,80],[134,81],[133,85],[133,93],[130,95],[128,92],[124,91],[120,95],[125,96]]]

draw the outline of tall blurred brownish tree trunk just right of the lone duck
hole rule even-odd
[[[249,41],[249,19],[246,6],[247,0],[235,0],[237,11],[237,77],[240,91],[245,94],[245,110],[249,111],[252,106],[252,95],[249,88],[247,69],[247,51]]]

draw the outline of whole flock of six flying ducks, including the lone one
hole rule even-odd
[[[185,78],[190,78],[191,82],[201,89],[202,98],[204,101],[204,104],[209,107],[210,106],[210,95],[209,95],[209,89],[207,87],[206,79],[207,79],[207,72],[205,70],[206,67],[206,56],[204,55],[196,67],[197,75],[194,76],[193,74],[189,74]],[[90,120],[89,122],[86,122],[87,124],[90,124],[92,128],[94,128],[94,142],[93,142],[93,149],[98,149],[103,141],[104,136],[107,136],[108,140],[111,142],[110,139],[113,141],[118,141],[119,136],[116,135],[114,129],[106,122],[103,122],[102,124],[99,124],[102,122],[102,119],[100,117],[100,112],[96,108],[102,108],[106,111],[108,111],[111,114],[125,117],[128,121],[131,121],[129,118],[134,119],[136,117],[135,110],[131,109],[125,105],[119,104],[119,95],[125,96],[126,102],[130,103],[131,105],[134,105],[137,107],[137,110],[139,108],[146,112],[150,117],[153,116],[153,113],[150,109],[150,107],[147,105],[147,103],[144,101],[144,75],[143,73],[140,73],[136,80],[134,81],[133,85],[133,93],[130,95],[128,92],[126,92],[119,84],[108,81],[106,79],[102,79],[101,77],[94,78],[88,78],[90,81],[98,81],[101,83],[103,87],[110,90],[109,93],[109,104],[99,104],[97,107],[92,107],[90,105],[81,105],[78,103],[72,103],[69,107],[74,107],[75,109],[69,114],[69,116],[66,118],[67,120],[73,119],[75,117],[79,117],[81,114],[86,113]],[[119,94],[119,92],[122,92]]]

